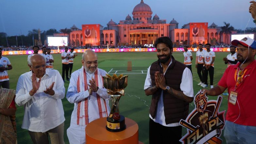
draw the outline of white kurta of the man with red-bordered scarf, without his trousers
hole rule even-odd
[[[98,107],[98,101],[97,101],[97,97],[96,95],[89,95],[88,90],[87,91],[81,91],[79,93],[77,93],[77,79],[78,79],[78,75],[80,73],[82,69],[79,69],[75,72],[73,72],[71,74],[71,78],[70,78],[70,83],[69,83],[69,88],[67,91],[67,100],[74,104],[74,110],[72,111],[72,115],[71,115],[71,123],[76,124],[76,120],[77,120],[77,106],[78,106],[78,102],[82,101],[85,98],[88,98],[88,119],[89,119],[89,123],[93,120],[99,119],[100,115],[99,113],[99,107]],[[102,76],[106,75],[106,71],[99,69],[99,74],[101,74]],[[91,80],[91,78],[94,78],[94,73],[88,73],[86,72],[86,78],[87,78],[87,83],[89,84],[89,80]],[[107,94],[107,89],[105,88],[99,88],[97,93],[100,97],[102,97],[103,99],[106,100],[106,104],[107,104],[107,112],[109,114],[110,112],[110,108],[109,108],[109,96]],[[93,93],[92,93],[93,94]],[[84,107],[83,107],[83,111],[84,111]],[[82,122],[83,123],[83,122]]]

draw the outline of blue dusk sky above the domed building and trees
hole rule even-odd
[[[57,30],[75,24],[106,24],[113,19],[117,24],[132,17],[133,8],[141,0],[1,0],[0,32],[8,36],[27,35],[29,30]],[[179,28],[190,22],[213,22],[223,26],[230,23],[236,29],[255,27],[248,12],[250,0],[144,0],[151,7],[152,18],[169,23],[174,18]],[[249,21],[249,23],[248,23]]]

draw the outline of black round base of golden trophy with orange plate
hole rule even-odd
[[[126,129],[125,118],[120,115],[120,120],[110,121],[107,117],[106,129],[110,132],[120,132]]]

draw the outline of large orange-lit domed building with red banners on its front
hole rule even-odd
[[[99,34],[97,34],[97,38],[93,38],[97,42],[92,43],[84,40],[87,36],[95,37],[95,34],[89,36],[90,29],[85,31],[85,28],[81,30],[73,25],[69,34],[70,45],[93,46],[96,43],[110,46],[145,45],[154,44],[158,37],[163,36],[170,37],[176,46],[198,43],[217,44],[220,42],[229,44],[231,42],[231,36],[229,34],[220,34],[221,28],[214,23],[210,26],[208,26],[207,22],[188,23],[179,29],[179,23],[176,20],[172,19],[170,23],[167,23],[166,20],[161,20],[159,16],[153,14],[150,6],[145,4],[143,0],[134,7],[132,17],[128,14],[125,20],[120,20],[118,24],[111,19],[106,27],[100,24],[95,25],[99,25],[99,31],[95,32]],[[60,36],[61,34],[56,35]]]

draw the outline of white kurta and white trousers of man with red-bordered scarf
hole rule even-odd
[[[96,96],[96,92],[93,92],[92,95],[89,95],[88,90],[86,91],[80,91],[79,93],[77,92],[77,80],[78,80],[78,75],[82,71],[82,68],[73,72],[71,74],[70,78],[70,84],[69,88],[67,91],[67,100],[74,104],[74,110],[72,111],[71,115],[71,122],[70,122],[70,127],[67,130],[67,135],[69,138],[69,142],[71,144],[83,144],[85,143],[85,119],[82,119],[82,121],[79,121],[79,124],[77,122],[77,109],[78,109],[78,103],[80,101],[83,101],[84,99],[88,98],[88,122],[90,123],[93,120],[99,119],[99,106],[98,106],[98,100]],[[98,69],[98,77],[105,76],[106,71],[102,69]],[[89,84],[89,80],[91,78],[95,79],[94,73],[88,73],[86,72],[86,78],[87,78],[87,84]],[[89,88],[89,87],[88,87]],[[97,91],[97,94],[105,100],[106,102],[106,107],[107,107],[107,115],[109,115],[110,108],[108,104],[108,99],[109,96],[106,92],[105,88],[100,88]],[[85,111],[85,106],[81,106],[81,113],[84,114]],[[83,118],[85,117],[84,115],[82,116]]]

